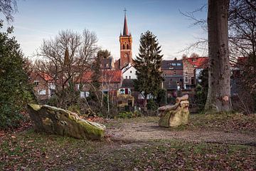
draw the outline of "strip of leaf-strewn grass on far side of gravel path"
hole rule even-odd
[[[124,123],[156,123],[159,117],[141,117],[114,119],[105,123],[110,127],[120,128]],[[256,114],[242,115],[240,113],[191,114],[188,125],[169,128],[169,130],[221,130],[225,132],[239,131],[241,133],[256,133]]]

